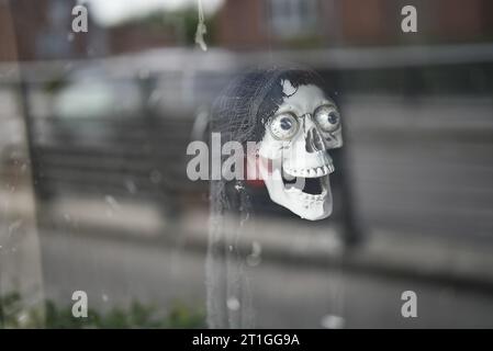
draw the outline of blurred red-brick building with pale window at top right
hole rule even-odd
[[[417,9],[418,33],[401,31],[401,9]],[[395,45],[493,39],[490,0],[225,0],[219,45]]]

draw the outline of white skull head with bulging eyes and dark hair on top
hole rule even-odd
[[[213,121],[225,140],[259,143],[258,169],[270,199],[310,220],[332,214],[328,150],[343,145],[339,112],[322,87],[312,70],[256,70],[219,99]]]

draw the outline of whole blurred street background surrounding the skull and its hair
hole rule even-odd
[[[0,0],[0,327],[205,326],[209,184],[186,149],[266,63],[325,78],[345,146],[326,220],[253,185],[258,327],[493,327],[493,2],[202,5],[206,52],[197,1]]]

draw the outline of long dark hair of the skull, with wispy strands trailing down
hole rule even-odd
[[[239,75],[224,89],[212,109],[210,132],[221,133],[221,143],[258,143],[266,123],[287,98],[282,81],[296,89],[303,84],[323,87],[310,69],[272,67]],[[222,156],[223,157],[223,156]],[[222,165],[223,160],[221,160]],[[251,218],[250,192],[244,180],[212,180],[210,186],[210,237],[206,260],[208,324],[211,328],[253,328],[254,315],[245,252],[239,248],[242,228]],[[233,218],[233,226],[226,219]],[[231,308],[234,307],[237,308]]]

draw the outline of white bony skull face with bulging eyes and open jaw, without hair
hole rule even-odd
[[[343,145],[339,113],[314,84],[281,84],[285,98],[259,146],[260,176],[273,202],[302,218],[323,219],[333,208],[327,150]]]

